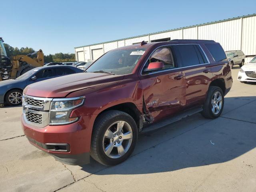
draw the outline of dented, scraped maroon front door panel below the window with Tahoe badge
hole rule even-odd
[[[174,79],[179,75],[184,76],[182,71],[175,69],[149,74],[141,80],[146,108],[154,121],[174,114],[186,105],[185,78]]]

